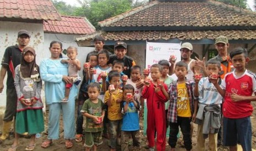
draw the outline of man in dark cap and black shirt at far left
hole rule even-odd
[[[9,129],[13,120],[13,117],[16,114],[17,107],[17,93],[14,86],[14,69],[20,64],[21,52],[28,45],[30,40],[30,34],[26,30],[20,30],[18,32],[17,42],[18,45],[13,45],[6,48],[4,52],[3,59],[1,62],[1,71],[0,71],[0,93],[2,93],[4,85],[3,80],[7,72],[7,89],[6,89],[6,111],[4,112],[3,119],[3,130],[0,141],[6,140],[9,136]]]

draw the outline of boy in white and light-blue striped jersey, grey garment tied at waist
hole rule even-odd
[[[208,75],[221,71],[220,61],[209,60],[206,64]],[[221,78],[218,75],[218,82]],[[195,78],[194,96],[199,97],[199,109],[195,123],[198,124],[197,150],[205,150],[205,139],[209,137],[209,149],[217,150],[217,133],[221,123],[222,96],[214,84],[209,82],[209,77]]]

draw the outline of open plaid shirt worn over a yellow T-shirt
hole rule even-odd
[[[189,105],[191,114],[194,112],[194,100],[197,100],[194,97],[194,87],[195,82],[193,80],[186,79],[186,88],[189,97]],[[171,123],[177,123],[177,80],[173,81],[169,85],[168,95],[170,96],[170,105],[168,107],[167,119]]]

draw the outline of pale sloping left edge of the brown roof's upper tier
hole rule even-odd
[[[142,5],[140,7],[131,9],[131,10],[126,11],[126,12],[120,14],[120,15],[113,16],[112,18],[105,19],[104,21],[100,21],[100,22],[98,22],[98,25],[100,27],[104,27],[104,26],[110,25],[113,22],[116,22],[117,20],[121,20],[123,18],[126,18],[127,16],[130,16],[130,15],[133,15],[135,13],[138,13],[139,11],[142,11],[142,10],[144,10],[146,8],[152,7],[153,5],[158,4],[158,3],[160,3],[160,2],[159,1],[154,1],[154,2],[151,2],[149,4],[145,4],[145,5]]]

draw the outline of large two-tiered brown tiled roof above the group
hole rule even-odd
[[[77,38],[90,44],[96,34],[105,40],[230,40],[256,39],[256,13],[211,0],[151,2],[99,22],[101,32]],[[79,41],[84,41],[79,42]]]

